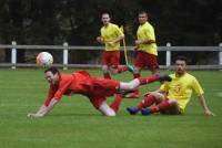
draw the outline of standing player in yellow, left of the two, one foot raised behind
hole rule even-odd
[[[105,50],[102,53],[102,71],[104,78],[111,78],[111,73],[122,73],[125,71],[133,71],[131,66],[120,66],[120,41],[124,39],[124,34],[121,29],[111,23],[110,14],[102,13],[102,23],[100,32],[101,35],[97,38],[97,41],[105,45]]]

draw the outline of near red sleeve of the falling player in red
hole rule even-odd
[[[54,94],[54,98],[57,101],[60,101],[62,95],[64,94],[64,92],[67,91],[67,88],[70,86],[70,84],[72,83],[72,80],[65,80],[63,82],[60,83],[58,91]]]

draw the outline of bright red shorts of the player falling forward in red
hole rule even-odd
[[[118,92],[119,87],[119,81],[93,77],[93,88],[89,95],[90,102],[95,108],[99,108],[108,96],[112,96]]]

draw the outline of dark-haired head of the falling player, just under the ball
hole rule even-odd
[[[57,84],[60,77],[60,72],[57,67],[49,67],[44,71],[46,80],[51,84]]]

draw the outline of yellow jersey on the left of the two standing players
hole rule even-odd
[[[119,36],[124,36],[124,34],[117,24],[109,23],[107,27],[101,28],[101,36],[105,43],[113,41]],[[119,51],[119,50],[120,50],[120,42],[112,45],[105,43],[105,51]]]

